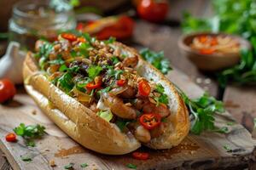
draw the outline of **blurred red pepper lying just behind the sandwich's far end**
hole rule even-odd
[[[128,16],[120,16],[119,20],[113,26],[107,26],[96,33],[99,40],[116,37],[117,39],[125,39],[131,37],[134,27],[134,21]]]

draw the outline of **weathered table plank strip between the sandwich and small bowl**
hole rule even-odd
[[[212,96],[218,96],[218,83],[211,77],[198,71],[189,59],[180,54],[177,40],[181,36],[180,29],[168,26],[157,26],[143,20],[137,21],[134,32],[134,41],[155,51],[163,50],[172,65],[186,73],[192,82],[197,82],[201,88],[207,90]]]

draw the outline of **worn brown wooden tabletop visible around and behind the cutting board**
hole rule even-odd
[[[211,14],[209,0],[179,0],[170,1],[171,10],[168,14],[169,20],[180,21],[184,9],[192,14],[201,16]],[[228,86],[219,90],[218,83],[207,75],[198,71],[189,59],[179,53],[177,39],[182,34],[179,26],[158,26],[143,20],[137,20],[136,30],[132,45],[136,48],[148,47],[156,51],[163,50],[180,71],[187,74],[193,82],[207,90],[212,96],[223,99],[226,109],[233,114],[237,122],[246,127],[249,132],[256,136],[253,130],[253,118],[256,117],[256,90],[253,87]],[[135,45],[136,44],[136,45]],[[253,169],[253,167],[250,167]],[[12,169],[0,150],[0,170]]]

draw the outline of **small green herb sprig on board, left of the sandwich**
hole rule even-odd
[[[45,127],[41,125],[28,125],[26,126],[24,123],[20,123],[19,127],[15,127],[14,132],[18,135],[26,139],[26,145],[35,146],[34,139],[41,138],[44,136]]]

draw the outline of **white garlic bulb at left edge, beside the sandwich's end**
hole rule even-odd
[[[20,51],[20,43],[9,42],[6,54],[0,59],[0,78],[9,78],[15,84],[21,84],[22,65],[26,53]]]

